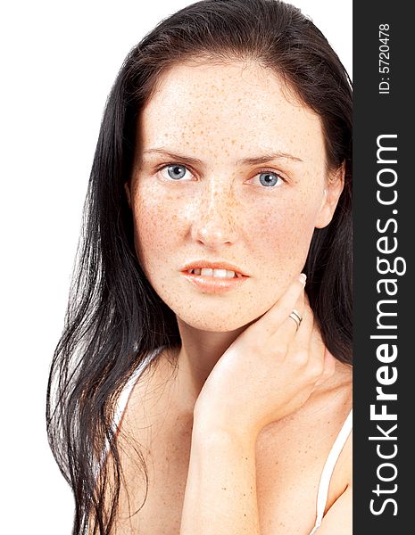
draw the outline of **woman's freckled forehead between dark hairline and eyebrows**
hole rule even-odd
[[[281,151],[324,159],[320,117],[258,63],[182,63],[162,74],[139,121],[142,147],[206,157]]]

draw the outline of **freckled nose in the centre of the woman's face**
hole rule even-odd
[[[206,186],[195,202],[192,239],[212,249],[236,243],[237,210],[236,199],[224,180]]]

